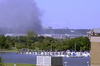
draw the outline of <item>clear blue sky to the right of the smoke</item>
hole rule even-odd
[[[100,27],[100,0],[35,0],[43,12],[42,25],[52,28]]]

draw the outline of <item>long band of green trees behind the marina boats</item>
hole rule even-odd
[[[76,47],[75,47],[76,46]],[[34,31],[28,31],[27,36],[11,37],[0,35],[0,48],[12,49],[16,47],[18,50],[29,48],[35,50],[55,51],[55,50],[90,50],[90,40],[88,37],[77,37],[73,39],[54,39],[52,37],[38,36]]]

